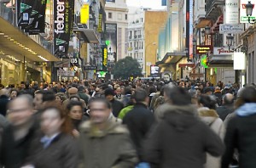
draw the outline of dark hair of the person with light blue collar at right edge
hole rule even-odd
[[[241,94],[236,101],[236,108],[247,103],[256,103],[256,89],[254,87],[244,87],[241,90]]]

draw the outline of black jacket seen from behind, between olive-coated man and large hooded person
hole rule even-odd
[[[154,123],[154,115],[145,104],[138,103],[125,115],[123,123],[127,125],[131,133],[131,140],[137,148],[139,159],[142,160],[143,140]]]

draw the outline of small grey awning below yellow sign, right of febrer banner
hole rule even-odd
[[[99,39],[96,36],[95,32],[93,29],[85,29],[85,28],[74,28],[74,32],[82,32],[82,36],[84,35],[85,41],[88,43],[94,43],[97,44],[99,43]]]

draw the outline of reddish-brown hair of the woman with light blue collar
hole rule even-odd
[[[64,119],[64,122],[61,125],[61,132],[72,134],[73,126],[71,124],[70,118],[67,115],[67,109],[65,110],[61,105],[51,102],[44,106],[42,114],[48,109],[56,109],[59,112],[61,119]]]

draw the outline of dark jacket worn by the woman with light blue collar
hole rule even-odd
[[[79,149],[76,140],[64,133],[59,134],[44,148],[39,135],[32,141],[30,157],[26,162],[36,168],[76,168],[79,159]]]

